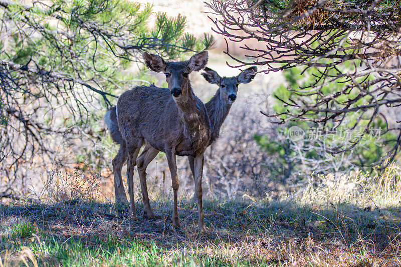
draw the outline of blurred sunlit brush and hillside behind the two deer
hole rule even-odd
[[[142,31],[141,34],[143,35],[159,35],[159,32],[163,32],[160,29],[166,27],[166,25],[163,26],[163,21],[168,22],[168,18],[174,21],[174,18],[178,18],[180,23],[176,25],[180,24],[180,28],[178,27],[179,31],[175,33],[172,31],[169,35],[174,36],[176,34],[177,38],[184,36],[185,38],[195,38],[198,40],[205,39],[205,36],[208,36],[210,40],[213,39],[213,42],[209,42],[204,47],[198,43],[195,44],[195,41],[192,40],[192,42],[189,39],[189,41],[186,40],[189,43],[185,44],[191,44],[192,48],[197,51],[207,47],[210,52],[208,67],[217,71],[222,77],[236,76],[240,73],[240,69],[244,69],[244,67],[232,67],[238,66],[238,62],[224,53],[227,52],[227,49],[231,56],[245,62],[252,62],[252,58],[249,55],[255,55],[255,51],[247,51],[240,47],[245,45],[256,50],[266,48],[266,43],[258,42],[255,39],[234,42],[230,38],[225,38],[217,34],[215,32],[217,30],[216,25],[213,21],[218,18],[218,15],[202,1],[139,0],[137,3],[139,5],[135,6],[137,7],[136,11],[143,13],[141,15],[143,16],[141,19],[143,25],[141,25],[138,31]],[[30,5],[31,2],[25,1],[23,4]],[[72,5],[70,8],[74,11],[75,7],[77,6]],[[86,12],[88,13],[88,11]],[[110,14],[108,16],[113,15]],[[105,21],[106,19],[104,19]],[[29,46],[24,47],[24,42],[21,39],[23,35],[19,37],[17,33],[18,31],[21,33],[26,29],[23,27],[18,30],[18,27],[16,28],[16,26],[7,21],[3,21],[3,25],[5,26],[1,32],[2,47],[5,52],[3,55],[8,53],[9,59],[10,57],[14,57],[13,62],[20,64],[20,70],[24,70],[23,67],[26,67],[40,77],[40,68],[37,65],[35,66],[36,63],[32,63],[33,56],[41,55],[42,53],[39,49],[38,51],[34,51],[35,49],[32,47],[37,48],[40,44],[31,44],[31,48]],[[53,31],[58,29],[55,25],[57,25],[56,19],[49,19],[47,21],[47,27],[53,29]],[[171,25],[174,25],[174,23]],[[95,27],[93,28],[95,31],[101,33],[96,28],[101,27],[101,24],[93,27]],[[175,28],[175,30],[178,28]],[[116,27],[115,32],[118,32],[119,29]],[[159,29],[159,32],[154,29]],[[52,34],[45,31],[42,33]],[[161,35],[163,34],[168,36],[168,33],[161,33]],[[35,39],[34,37],[35,34],[31,35],[32,40]],[[116,35],[116,37],[118,36]],[[68,39],[68,37],[66,38]],[[127,49],[128,44],[134,44],[129,43],[132,41],[130,39],[121,40],[125,45],[125,49]],[[170,43],[174,41],[173,37],[170,37],[168,40]],[[107,42],[100,44],[99,49],[106,49],[107,45]],[[121,45],[118,42],[112,45],[113,47],[117,47],[117,49],[121,49]],[[18,49],[19,46],[21,46],[21,49]],[[17,50],[13,50],[15,47],[17,47]],[[97,49],[97,45],[96,48],[93,44],[90,44],[89,47],[94,51]],[[146,50],[149,47],[151,46],[143,46],[142,48]],[[79,51],[79,49],[77,50]],[[167,54],[171,58],[187,59],[193,54],[190,51],[186,51],[187,53],[182,52],[185,52],[185,50],[175,52],[174,54],[168,51],[167,48]],[[51,54],[46,51],[42,54],[46,55],[47,53]],[[63,53],[61,53],[61,58],[66,56]],[[20,91],[18,94],[22,98],[16,100],[15,103],[24,103],[20,105],[22,107],[21,113],[33,109],[33,112],[30,111],[27,114],[29,118],[35,118],[37,123],[36,132],[31,136],[21,135],[21,132],[31,131],[27,124],[28,120],[17,120],[17,124],[13,125],[12,120],[18,118],[18,116],[14,116],[15,118],[10,117],[9,115],[13,114],[10,111],[11,109],[6,110],[7,107],[2,109],[3,114],[11,118],[7,127],[11,126],[15,131],[13,133],[7,130],[7,127],[2,128],[5,135],[8,133],[8,139],[4,139],[3,143],[5,145],[4,151],[9,152],[9,154],[6,152],[3,154],[4,158],[1,162],[0,182],[1,188],[4,189],[2,190],[4,196],[12,196],[14,198],[28,197],[32,199],[41,198],[49,194],[50,185],[57,183],[55,180],[60,179],[68,184],[71,180],[83,179],[82,182],[75,181],[76,185],[78,184],[77,186],[85,188],[89,184],[96,183],[97,186],[94,190],[99,199],[114,198],[111,160],[118,151],[118,145],[113,144],[103,116],[108,107],[116,104],[117,97],[125,90],[137,85],[149,85],[150,83],[154,83],[159,87],[166,87],[166,83],[163,74],[157,74],[144,68],[140,62],[140,54],[137,52],[133,52],[131,55],[137,59],[134,62],[122,59],[118,63],[115,61],[107,62],[106,64],[99,61],[99,63],[96,63],[98,65],[94,63],[93,66],[91,66],[91,61],[95,62],[98,60],[97,57],[101,59],[102,56],[98,56],[95,52],[93,59],[91,59],[92,54],[90,53],[91,51],[87,51],[87,58],[85,59],[88,62],[86,63],[87,66],[79,67],[82,69],[80,71],[86,73],[87,79],[90,80],[87,84],[97,85],[106,93],[96,95],[93,93],[96,91],[87,86],[86,88],[82,87],[78,89],[72,94],[68,93],[64,97],[60,93],[60,86],[64,86],[65,88],[65,85],[57,85],[52,89],[56,91],[48,95],[41,95],[41,97],[44,96],[47,99],[45,102],[39,101],[35,103],[33,100],[26,101],[26,97],[23,97],[26,92]],[[162,52],[160,54],[163,56]],[[167,54],[164,54],[164,56]],[[121,56],[120,58],[123,57]],[[4,56],[3,59],[6,60],[7,57]],[[40,60],[43,60],[43,65],[63,65],[63,62],[58,63],[54,61],[52,63],[51,58],[47,58],[46,60],[39,59],[39,62],[41,62]],[[78,60],[80,59],[77,59],[77,62]],[[381,143],[377,135],[377,131],[380,131],[379,135],[381,134],[381,130],[384,133],[385,129],[382,128],[384,126],[376,125],[374,127],[376,135],[372,133],[366,134],[366,138],[352,151],[332,155],[325,150],[327,144],[332,142],[341,143],[344,140],[349,141],[355,137],[352,135],[348,136],[347,134],[344,135],[340,130],[331,133],[322,132],[319,124],[309,122],[288,122],[278,125],[273,123],[278,122],[277,118],[271,118],[261,113],[261,111],[265,114],[271,114],[272,112],[280,113],[287,109],[273,96],[289,97],[289,94],[292,93],[289,93],[288,88],[302,87],[303,84],[307,84],[315,79],[312,72],[306,71],[301,73],[302,69],[297,68],[276,72],[263,72],[264,70],[266,70],[265,66],[259,66],[259,73],[255,79],[249,84],[241,84],[239,86],[237,100],[232,105],[230,113],[223,123],[220,138],[206,151],[203,182],[204,195],[210,199],[244,199],[255,197],[279,199],[283,196],[302,196],[305,190],[310,190],[313,186],[319,186],[322,183],[332,186],[339,179],[343,179],[342,183],[344,186],[352,192],[360,191],[358,183],[354,181],[355,177],[357,177],[357,171],[372,173],[373,168],[356,166],[352,162],[375,162],[385,155],[387,151],[385,148],[386,144]],[[96,79],[93,80],[93,77],[96,77],[96,73],[101,74],[98,76],[99,78],[96,78],[100,79],[99,81]],[[195,94],[206,103],[216,93],[218,86],[208,83],[200,73],[191,73],[190,80]],[[105,77],[102,77],[103,74]],[[116,75],[118,76],[117,78],[115,78]],[[75,80],[69,80],[70,83],[84,84],[85,77],[80,78],[83,82],[78,81],[77,77],[80,77],[78,72],[72,76],[75,77]],[[113,79],[116,80],[112,80],[110,77],[114,77]],[[30,82],[30,79],[33,78],[23,77],[18,79],[27,79],[26,82]],[[35,79],[38,82],[38,79]],[[108,82],[103,83],[101,80]],[[43,82],[47,84],[53,83],[51,79],[50,81]],[[33,98],[35,98],[36,94],[41,94],[41,86],[43,84],[40,82],[36,85],[32,83],[29,86],[32,90],[30,94]],[[46,86],[51,87],[51,85]],[[90,88],[89,91],[87,90],[88,88]],[[333,84],[330,90],[336,89],[338,89],[338,84]],[[80,107],[79,101],[71,105],[66,104],[69,102],[69,98],[74,98],[80,94],[90,96],[86,98],[85,105]],[[112,97],[111,95],[116,97]],[[6,104],[5,99],[7,97],[3,96],[4,105]],[[106,102],[104,101],[105,99],[107,99]],[[63,101],[65,101],[64,104]],[[45,107],[44,103],[50,104],[51,107]],[[82,115],[81,112],[85,115]],[[384,108],[381,112],[390,111]],[[394,111],[391,110],[391,112]],[[75,117],[77,114],[81,114],[81,117],[78,116],[78,119]],[[85,120],[80,119],[82,116]],[[396,120],[392,119],[391,113],[389,113],[387,118],[390,121],[390,125],[398,125]],[[352,118],[349,120],[352,121]],[[46,128],[47,125],[49,128]],[[288,130],[292,126],[297,126],[299,127],[298,129],[302,130],[304,134],[302,140],[295,140],[291,136]],[[19,127],[22,128],[19,129]],[[42,138],[38,141],[38,144],[32,146],[25,145],[31,141],[35,143],[36,138]],[[15,147],[10,145],[9,149],[6,149],[9,144],[14,144]],[[51,147],[51,152],[48,148],[37,150],[41,146]],[[29,157],[19,157],[17,150],[26,151],[21,152],[21,154],[29,154]],[[39,153],[38,151],[41,152]],[[177,165],[180,179],[179,195],[184,198],[190,197],[193,194],[194,186],[187,159],[185,157],[178,157]],[[123,168],[123,181],[126,188],[125,170],[126,167]],[[149,165],[147,174],[148,188],[150,188],[151,197],[154,200],[160,197],[165,198],[171,193],[171,179],[163,153],[159,153],[156,159]],[[86,181],[86,179],[90,179],[91,182]],[[134,183],[136,187],[135,191],[139,196],[139,180],[136,173]],[[65,197],[71,197],[68,196],[68,194],[71,194],[71,190],[70,188],[61,191],[67,194]]]

